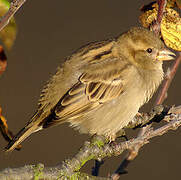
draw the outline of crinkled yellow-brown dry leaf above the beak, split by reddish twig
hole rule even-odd
[[[179,13],[170,8],[171,2],[167,5],[161,22],[161,36],[165,44],[176,50],[181,51],[181,18]],[[148,28],[157,19],[158,4],[151,3],[142,7],[143,14],[140,16],[141,24]]]

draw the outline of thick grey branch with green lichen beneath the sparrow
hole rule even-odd
[[[163,114],[157,114],[159,117]],[[148,117],[149,118],[149,115]],[[176,130],[181,126],[181,106],[168,108],[167,114],[163,116],[163,120],[167,123],[157,129],[148,129],[143,136],[130,139],[129,141],[120,142],[116,145],[113,143],[107,143],[106,140],[101,136],[94,136],[90,142],[85,142],[84,146],[80,149],[78,154],[72,159],[65,160],[61,166],[44,168],[41,165],[28,165],[21,168],[5,169],[0,172],[0,180],[3,179],[32,179],[38,177],[40,179],[110,179],[100,178],[85,173],[81,173],[81,167],[89,160],[102,160],[105,157],[119,156],[125,150],[131,150],[132,154],[129,154],[130,158],[134,159],[137,155],[137,149],[140,149],[145,144],[149,143],[149,140],[156,136],[161,136],[167,133],[169,130]],[[134,154],[134,153],[135,154]],[[132,159],[128,159],[131,161]],[[116,174],[118,175],[118,174]],[[112,179],[116,179],[112,176]]]

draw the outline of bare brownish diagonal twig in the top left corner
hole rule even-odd
[[[9,23],[10,19],[25,3],[26,0],[13,0],[10,4],[8,12],[0,19],[0,31]]]

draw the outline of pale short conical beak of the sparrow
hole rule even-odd
[[[156,59],[159,61],[169,61],[169,60],[173,60],[175,59],[176,56],[172,51],[168,50],[168,49],[163,49],[161,51],[159,51]]]

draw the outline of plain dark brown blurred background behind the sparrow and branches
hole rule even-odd
[[[15,15],[18,35],[12,50],[6,51],[8,67],[0,77],[0,105],[10,130],[17,133],[31,118],[42,87],[66,56],[88,42],[111,38],[139,25],[139,8],[149,2],[27,1]],[[180,76],[179,70],[169,89],[167,105],[181,104]],[[141,112],[149,112],[153,102],[154,99]],[[180,137],[181,129],[178,129],[152,139],[121,179],[170,180],[180,177]],[[3,148],[7,142],[0,136],[0,170],[37,163],[55,166],[75,155],[88,139],[88,135],[80,135],[63,124],[33,134],[23,142],[21,151],[6,155]],[[106,158],[100,176],[116,170],[123,157]],[[90,173],[93,164],[93,161],[86,164],[83,171]]]

